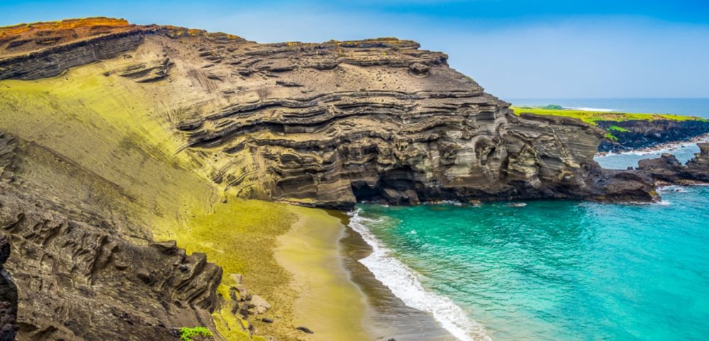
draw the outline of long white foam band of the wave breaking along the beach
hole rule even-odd
[[[368,224],[381,223],[359,215],[360,210],[350,212],[350,227],[357,231],[372,247],[372,254],[359,262],[364,264],[374,277],[388,286],[391,292],[411,308],[431,313],[433,318],[460,341],[492,341],[485,328],[457,306],[450,298],[423,288],[419,275],[391,256],[379,239],[369,231]]]

